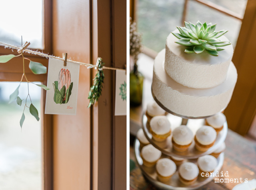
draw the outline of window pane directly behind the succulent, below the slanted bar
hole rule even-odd
[[[228,40],[230,40],[235,48],[242,24],[240,20],[226,16],[217,10],[209,8],[198,2],[188,1],[186,21],[196,23],[198,18],[200,18],[201,22],[212,22],[212,24],[217,23],[216,31],[228,30],[225,36],[228,38]]]

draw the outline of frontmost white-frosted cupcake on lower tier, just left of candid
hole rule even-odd
[[[184,162],[179,168],[180,181],[185,185],[192,185],[196,182],[199,174],[199,169],[192,162]]]

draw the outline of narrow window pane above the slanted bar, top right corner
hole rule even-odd
[[[244,17],[247,0],[208,0]]]

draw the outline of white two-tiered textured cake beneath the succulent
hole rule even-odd
[[[219,39],[228,41],[225,36]],[[224,110],[237,80],[236,68],[231,62],[232,45],[216,57],[205,51],[186,54],[186,46],[174,43],[175,40],[170,34],[166,49],[156,56],[152,82],[154,98],[181,116],[205,117]]]

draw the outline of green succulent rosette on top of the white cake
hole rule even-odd
[[[228,31],[221,30],[214,32],[216,24],[206,24],[206,22],[202,24],[200,21],[198,21],[196,24],[192,24],[191,22],[184,22],[184,24],[185,27],[177,27],[180,34],[174,32],[172,32],[172,34],[179,39],[175,43],[189,46],[185,50],[187,54],[200,54],[205,50],[212,56],[218,56],[218,52],[224,50],[219,47],[228,46],[231,44],[230,42],[218,39]]]

